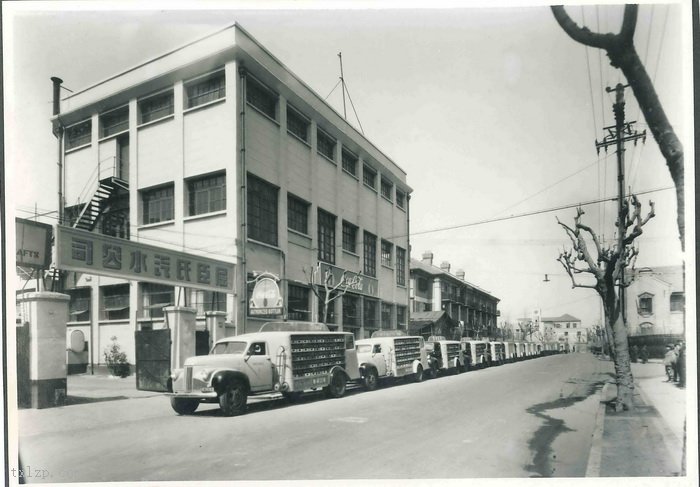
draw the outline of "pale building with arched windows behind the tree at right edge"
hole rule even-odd
[[[682,266],[635,269],[626,297],[630,336],[684,334]]]

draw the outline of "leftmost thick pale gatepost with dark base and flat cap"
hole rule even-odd
[[[28,293],[19,298],[29,317],[31,407],[63,406],[66,400],[66,323],[70,296]]]

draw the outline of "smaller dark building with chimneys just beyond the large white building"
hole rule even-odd
[[[421,260],[411,259],[412,319],[444,311],[458,324],[462,336],[495,336],[500,300],[467,282],[463,270],[451,274],[450,267],[449,262],[433,265],[432,252],[425,252]]]

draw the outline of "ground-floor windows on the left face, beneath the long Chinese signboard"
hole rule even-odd
[[[139,306],[140,318],[162,318],[163,307],[175,303],[175,290],[172,286],[141,283]],[[129,285],[115,284],[100,287],[99,320],[129,319]],[[90,288],[77,288],[68,291],[70,300],[70,321],[90,321]],[[226,311],[226,295],[214,291],[190,289],[187,305],[197,310],[198,316],[207,311]]]

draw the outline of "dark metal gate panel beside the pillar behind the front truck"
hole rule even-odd
[[[140,391],[169,392],[170,329],[136,332],[136,388]]]

